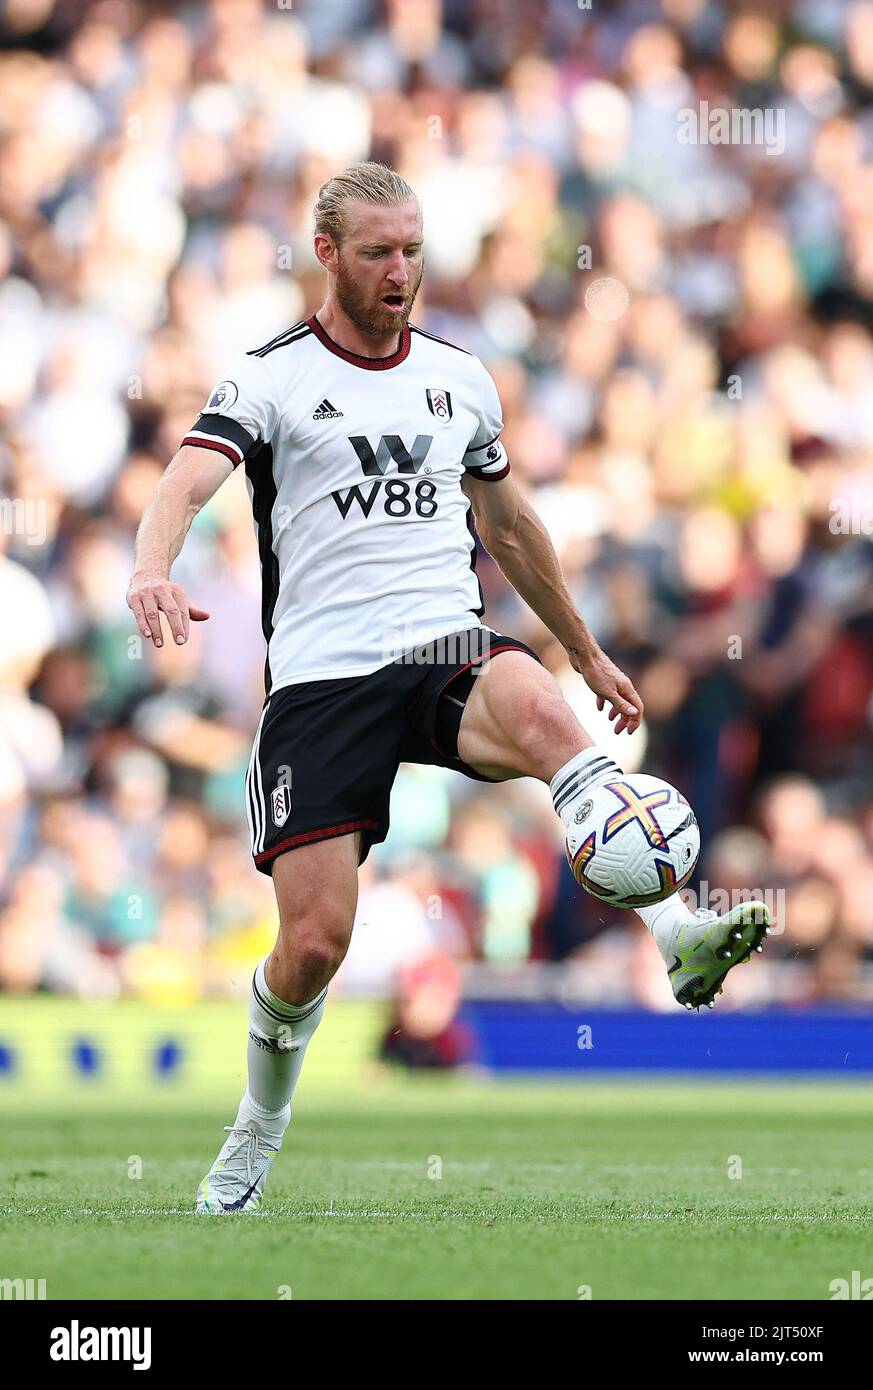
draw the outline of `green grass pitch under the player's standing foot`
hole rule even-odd
[[[49,1298],[827,1300],[873,1275],[863,1083],[303,1093],[249,1218],[192,1212],[232,1111],[7,1118],[0,1276]]]

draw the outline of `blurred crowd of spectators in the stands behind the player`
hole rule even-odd
[[[776,895],[731,997],[873,1002],[873,3],[6,0],[0,22],[0,988],[243,995],[272,945],[242,480],[174,570],[211,613],[188,646],[145,651],[125,591],[228,354],[321,302],[318,186],[375,157],[424,207],[413,321],[489,366],[514,477],[646,702],[614,752],[688,795],[712,894]],[[688,138],[705,104],[781,113],[778,147]],[[489,624],[591,713],[478,573]],[[637,919],[574,884],[545,788],[407,766],[338,988],[445,1022],[464,972],[670,999]]]

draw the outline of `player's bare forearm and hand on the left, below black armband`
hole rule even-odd
[[[170,570],[188,528],[234,464],[213,449],[185,443],[170,463],[146,507],[136,532],[136,557],[128,588],[128,607],[139,631],[163,645],[161,613],[177,642],[188,641],[189,621],[203,623],[209,613],[192,607]]]

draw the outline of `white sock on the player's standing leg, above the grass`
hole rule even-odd
[[[249,1086],[235,1123],[256,1120],[278,1143],[291,1123],[291,1099],[309,1040],[324,1015],[327,986],[310,1004],[285,1004],[267,984],[264,963],[260,962],[252,979]]]

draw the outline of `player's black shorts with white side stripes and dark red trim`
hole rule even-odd
[[[524,642],[491,628],[453,632],[368,676],[303,681],[271,694],[246,777],[252,855],[261,873],[286,849],[361,834],[360,863],[388,834],[400,763],[455,767],[492,781],[457,756],[464,702],[484,664]]]

